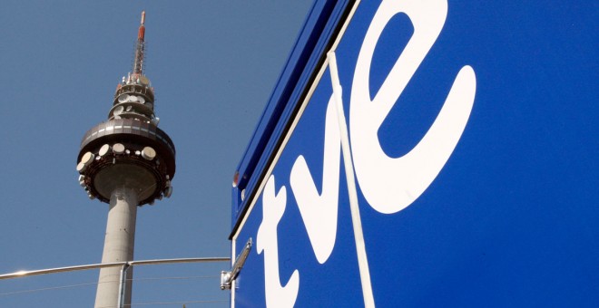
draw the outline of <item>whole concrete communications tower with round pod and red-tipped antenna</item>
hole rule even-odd
[[[132,261],[137,207],[172,194],[175,148],[157,127],[154,91],[143,74],[144,22],[142,12],[133,72],[117,85],[108,120],[85,133],[77,156],[79,184],[90,198],[109,204],[102,263]],[[95,306],[130,305],[131,271],[121,294],[121,267],[101,269]]]

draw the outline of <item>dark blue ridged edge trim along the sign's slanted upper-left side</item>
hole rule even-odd
[[[233,229],[239,225],[241,214],[247,210],[247,202],[241,200],[241,191],[247,196],[254,193],[254,188],[263,174],[263,168],[269,163],[274,149],[278,146],[284,130],[300,96],[303,86],[313,77],[317,63],[322,59],[322,52],[329,44],[330,35],[339,24],[339,18],[347,13],[350,1],[316,0],[307,16],[306,23],[300,32],[298,41],[290,53],[290,59],[281,72],[266,109],[260,117],[258,126],[250,140],[237,168],[239,183],[233,188],[231,224]],[[249,198],[248,198],[249,199]]]

